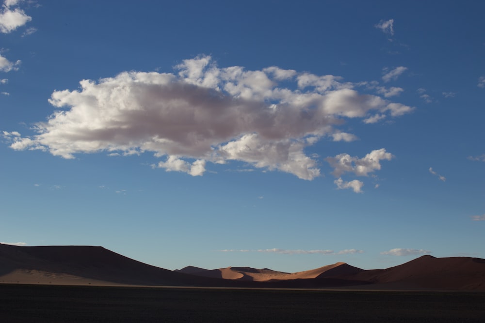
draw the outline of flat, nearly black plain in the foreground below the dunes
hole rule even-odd
[[[0,320],[485,322],[485,293],[0,284]]]

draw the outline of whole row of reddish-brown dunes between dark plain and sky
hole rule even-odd
[[[100,246],[0,244],[0,283],[254,288],[485,290],[485,259],[422,256],[387,269],[344,262],[297,273],[251,267],[167,270]]]

